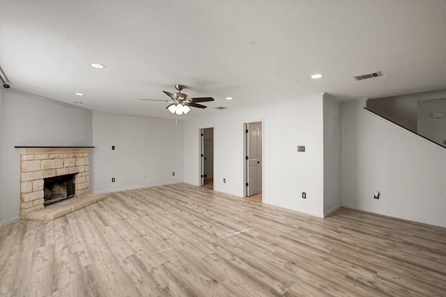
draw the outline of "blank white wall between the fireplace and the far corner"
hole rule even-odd
[[[182,123],[94,111],[93,146],[92,193],[183,182]]]

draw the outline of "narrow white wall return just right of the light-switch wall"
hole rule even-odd
[[[323,212],[341,207],[341,102],[323,95]]]

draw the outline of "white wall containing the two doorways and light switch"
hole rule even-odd
[[[214,189],[243,197],[245,122],[263,122],[263,202],[322,217],[323,94],[185,121],[184,181],[199,185],[199,129],[214,127]]]

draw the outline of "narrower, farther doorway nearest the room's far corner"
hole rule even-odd
[[[201,129],[201,186],[214,188],[214,128]]]

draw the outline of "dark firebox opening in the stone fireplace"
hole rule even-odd
[[[43,179],[43,205],[48,206],[75,197],[75,175]]]

